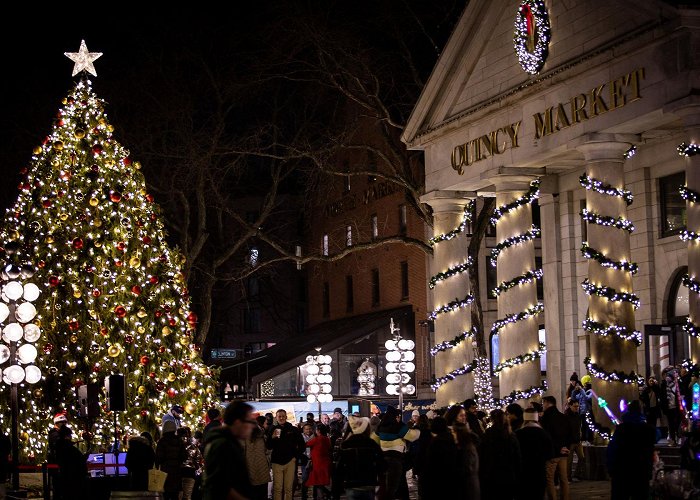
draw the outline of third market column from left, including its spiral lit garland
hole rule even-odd
[[[620,400],[638,398],[637,385],[641,382],[637,375],[641,334],[635,329],[634,318],[640,300],[632,291],[632,275],[638,266],[630,260],[634,225],[626,216],[633,196],[625,189],[624,175],[630,144],[612,136],[591,139],[579,146],[586,159],[586,172],[579,182],[586,190],[586,208],[581,217],[588,234],[588,241],[581,247],[588,259],[588,277],[582,287],[589,296],[583,328],[590,334],[591,343],[590,358],[584,364],[598,395],[595,422],[611,428],[616,418],[608,411],[608,402],[617,406]],[[588,423],[593,425],[592,420]]]

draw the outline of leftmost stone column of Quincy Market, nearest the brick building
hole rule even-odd
[[[464,191],[431,191],[421,197],[423,203],[433,209],[433,237],[448,234],[459,228],[464,220],[464,209],[475,193]],[[455,237],[437,241],[433,245],[433,257],[430,259],[430,276],[455,269],[467,262],[468,240],[465,232]],[[469,277],[466,272],[437,281],[429,297],[430,310],[445,306],[455,301],[462,301],[469,295]],[[432,300],[431,300],[432,299]],[[471,328],[470,308],[463,307],[451,312],[437,314],[435,319],[435,342],[441,344],[454,340],[460,333]],[[433,346],[430,346],[433,347]],[[440,378],[453,370],[463,367],[474,358],[471,339],[458,343],[451,349],[438,352],[434,357],[435,376]],[[469,383],[466,383],[466,382]],[[459,376],[455,380],[442,384],[436,392],[438,406],[462,402],[473,394],[472,375]]]

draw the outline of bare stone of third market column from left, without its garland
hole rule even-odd
[[[586,176],[592,182],[601,183],[597,189],[586,190],[586,209],[600,217],[626,218],[627,201],[622,194],[625,188],[624,154],[630,144],[636,142],[636,136],[612,134],[589,134],[582,138],[578,149],[586,160]],[[590,185],[589,185],[590,187]],[[605,191],[600,192],[600,191]],[[591,251],[603,257],[589,258],[588,282],[604,294],[632,293],[632,273],[628,269],[614,269],[610,265],[630,263],[630,234],[624,229],[601,223],[588,222],[588,245]],[[602,265],[607,262],[606,265]],[[607,335],[601,331],[591,332],[591,370],[593,390],[602,397],[610,409],[619,414],[621,399],[630,401],[639,398],[636,380],[632,383],[610,380],[612,372],[629,378],[637,373],[636,344],[616,335],[612,328],[624,328],[624,335],[635,331],[634,306],[625,300],[611,300],[589,289],[589,318],[602,328],[608,329]],[[619,331],[619,330],[618,330]],[[607,379],[607,380],[606,380]],[[604,409],[594,403],[596,423],[613,428]]]

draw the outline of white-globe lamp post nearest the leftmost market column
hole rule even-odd
[[[384,343],[384,347],[387,348],[386,371],[389,372],[386,376],[386,381],[389,383],[386,386],[386,392],[391,396],[399,396],[399,414],[403,418],[403,395],[416,393],[416,386],[410,383],[411,373],[416,370],[416,365],[413,363],[416,358],[413,352],[415,343],[401,338],[399,328],[394,326],[394,318],[391,318],[389,328],[392,338]]]

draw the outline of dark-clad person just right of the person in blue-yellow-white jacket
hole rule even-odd
[[[460,498],[458,449],[452,431],[444,417],[430,422],[432,439],[425,455],[423,472],[419,478],[422,498]],[[422,433],[421,433],[422,434]]]

